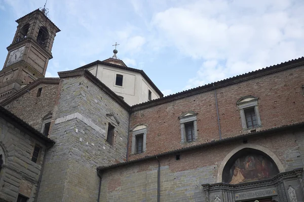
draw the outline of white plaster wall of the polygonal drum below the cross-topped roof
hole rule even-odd
[[[98,67],[97,67],[98,66]],[[107,85],[112,91],[124,97],[130,106],[148,101],[148,90],[151,91],[151,98],[159,98],[155,89],[138,72],[124,70],[107,65],[93,65],[87,68],[102,83]],[[97,74],[96,74],[97,70]],[[115,85],[116,74],[123,75],[123,86]]]

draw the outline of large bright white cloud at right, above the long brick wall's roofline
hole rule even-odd
[[[188,89],[301,57],[299,8],[292,0],[203,0],[159,12],[152,24],[182,55],[204,61]]]

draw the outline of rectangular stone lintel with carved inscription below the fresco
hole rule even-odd
[[[264,196],[278,195],[277,188],[257,189],[253,191],[243,191],[235,193],[235,200],[246,200],[251,198],[259,198]]]

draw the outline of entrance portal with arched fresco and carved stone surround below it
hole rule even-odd
[[[204,184],[206,202],[286,202],[303,197],[302,168],[279,172],[273,159],[260,150],[243,148],[226,162],[222,183]],[[293,192],[292,192],[293,190]]]

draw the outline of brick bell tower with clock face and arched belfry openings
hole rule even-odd
[[[46,9],[35,10],[16,20],[13,42],[0,71],[0,102],[34,80],[44,77],[52,46],[60,29],[47,17]]]

